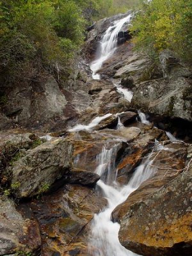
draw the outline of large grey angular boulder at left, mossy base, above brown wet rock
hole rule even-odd
[[[12,186],[18,198],[31,197],[48,191],[51,185],[61,179],[72,162],[72,143],[56,139],[27,152],[10,167]]]

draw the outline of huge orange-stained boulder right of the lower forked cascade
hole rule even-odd
[[[113,212],[113,220],[120,222],[119,239],[125,248],[146,256],[190,255],[192,170],[182,172],[188,163],[187,148],[170,144],[157,152],[152,163],[153,168],[157,166],[154,177]]]

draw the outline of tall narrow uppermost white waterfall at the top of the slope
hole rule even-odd
[[[102,63],[108,60],[109,56],[111,56],[115,52],[118,40],[118,33],[122,26],[124,26],[126,22],[130,22],[130,20],[131,14],[129,14],[124,19],[116,20],[113,26],[110,26],[104,33],[104,36],[100,41],[99,56],[97,60],[93,61],[90,65],[90,68],[93,72],[93,79],[100,79],[100,75],[97,74],[97,71],[102,67]]]

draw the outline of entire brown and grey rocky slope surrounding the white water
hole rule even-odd
[[[109,26],[124,18],[92,26],[87,61]],[[115,188],[124,188],[136,173],[143,181],[111,212],[120,243],[138,255],[191,255],[191,68],[170,51],[156,67],[133,51],[130,38],[125,24],[116,51],[98,70],[100,80],[81,61],[62,88],[50,77],[39,92],[33,86],[32,94],[12,92],[12,104],[2,107],[0,255],[106,256],[92,243],[92,230],[95,214],[109,204],[95,187],[112,170],[109,186],[115,179]],[[133,92],[131,102],[116,84]]]

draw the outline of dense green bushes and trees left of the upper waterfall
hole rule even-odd
[[[29,84],[50,73],[58,77],[62,72],[67,77],[86,26],[94,19],[127,10],[131,3],[133,0],[0,0],[1,86]]]

